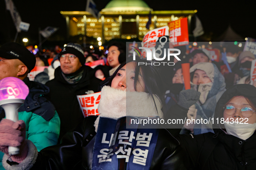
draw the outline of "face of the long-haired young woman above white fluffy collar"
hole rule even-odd
[[[123,91],[135,91],[135,88],[134,88],[134,77],[135,77],[134,63],[135,62],[127,63],[125,66],[123,66],[117,72],[117,75],[112,80],[111,87],[120,89]],[[145,91],[145,84],[140,75],[138,77],[138,83],[136,86],[136,90],[138,92]]]

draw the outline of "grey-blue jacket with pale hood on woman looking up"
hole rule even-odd
[[[220,96],[226,91],[225,87],[225,79],[218,70],[217,66],[213,63],[198,63],[190,68],[190,72],[193,74],[197,69],[203,70],[207,76],[213,82],[211,90],[207,94],[206,101],[204,104],[196,103],[197,119],[207,119],[212,118],[214,116],[214,110],[219,100]],[[191,77],[193,78],[193,77]],[[202,84],[204,85],[204,84]],[[192,85],[193,88],[193,85]],[[201,92],[202,95],[202,92]],[[213,132],[212,125],[209,123],[208,125],[203,124],[195,124],[194,126],[194,134],[198,135],[206,132]]]

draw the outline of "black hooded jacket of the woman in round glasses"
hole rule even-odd
[[[234,96],[245,96],[256,106],[256,88],[252,85],[233,85],[219,99],[214,114],[214,133],[179,135],[181,147],[187,151],[188,164],[195,170],[255,170],[256,133],[242,140],[228,135],[217,118],[223,118],[224,105]],[[253,113],[255,114],[255,113]]]

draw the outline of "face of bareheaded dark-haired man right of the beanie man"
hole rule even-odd
[[[118,50],[117,46],[111,46],[108,49],[107,62],[111,67],[115,68],[119,66],[120,64],[118,61],[119,54],[120,54],[120,51]]]

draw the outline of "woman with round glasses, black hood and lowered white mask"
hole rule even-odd
[[[255,170],[256,88],[233,85],[220,97],[213,118],[214,133],[179,135],[195,170]]]

